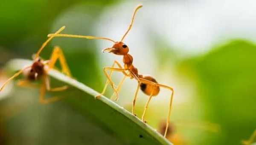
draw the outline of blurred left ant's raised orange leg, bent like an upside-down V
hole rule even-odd
[[[60,47],[55,46],[53,51],[52,51],[52,56],[49,60],[49,69],[52,69],[54,67],[54,64],[56,63],[56,61],[59,59],[60,63],[61,63],[61,69],[62,72],[64,74],[66,74],[67,76],[71,76],[70,70],[68,68],[66,59],[64,57],[64,54],[61,50]]]

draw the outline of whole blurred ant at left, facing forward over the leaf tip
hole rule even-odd
[[[55,34],[60,33],[63,29],[65,29],[65,26],[61,27]],[[1,87],[0,91],[3,90],[3,88],[6,86],[6,84],[23,73],[23,75],[26,77],[23,80],[20,80],[17,82],[18,86],[23,86],[23,87],[36,87],[33,85],[31,82],[36,81],[41,79],[42,84],[40,88],[40,97],[39,97],[39,102],[42,104],[48,104],[51,102],[55,102],[60,100],[62,97],[50,97],[50,98],[45,98],[45,93],[46,91],[62,91],[67,89],[67,86],[62,86],[62,87],[56,87],[56,88],[51,88],[50,87],[50,81],[49,81],[49,76],[48,71],[54,67],[55,62],[59,59],[62,72],[68,76],[70,76],[70,70],[67,66],[65,57],[63,55],[63,52],[61,51],[61,48],[58,46],[55,46],[51,55],[51,58],[47,61],[42,60],[39,57],[39,54],[41,51],[44,49],[44,47],[49,43],[49,41],[52,40],[53,37],[50,37],[47,39],[47,41],[44,42],[44,44],[41,46],[41,48],[38,50],[38,52],[35,54],[33,58],[33,63],[30,66],[24,67],[23,69],[19,70],[17,73],[15,73],[11,78],[9,78]]]

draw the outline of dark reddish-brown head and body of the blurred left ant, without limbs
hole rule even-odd
[[[40,59],[38,61],[33,62],[30,68],[23,71],[23,75],[32,81],[37,80],[43,74],[44,74],[44,64]]]

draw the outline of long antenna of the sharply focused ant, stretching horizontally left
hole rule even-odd
[[[69,35],[69,34],[48,34],[48,37],[71,37],[71,38],[86,38],[86,39],[103,39],[103,40],[108,40],[112,41],[113,43],[116,43],[116,41],[113,41],[110,38],[105,38],[105,37],[95,37],[95,36],[83,36],[83,35]]]

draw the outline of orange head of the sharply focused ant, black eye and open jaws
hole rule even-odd
[[[111,48],[105,48],[102,52],[111,52],[115,55],[126,55],[129,52],[129,47],[123,42],[116,42]]]

